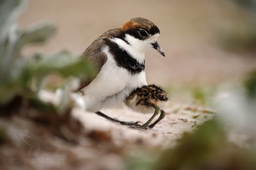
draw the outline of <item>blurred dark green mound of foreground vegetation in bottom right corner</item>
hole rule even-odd
[[[194,133],[184,133],[175,147],[132,159],[127,170],[254,170],[253,150],[231,144],[221,124],[205,122]],[[134,161],[136,160],[136,161]]]

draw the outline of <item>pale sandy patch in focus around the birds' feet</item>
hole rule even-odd
[[[123,107],[125,108],[125,106]],[[196,111],[191,111],[193,109],[196,109]],[[119,125],[118,123],[110,122],[93,113],[84,113],[76,110],[74,114],[88,129],[100,129],[106,131],[115,129],[119,132],[122,131],[122,133],[125,134],[124,139],[137,140],[138,138],[143,138],[146,139],[146,141],[150,141],[151,144],[157,145],[161,144],[163,139],[170,139],[168,142],[175,141],[175,139],[180,138],[184,132],[192,132],[196,127],[211,120],[213,116],[215,116],[212,111],[209,111],[206,108],[177,103],[164,110],[166,111],[166,117],[150,130],[133,130],[126,126]],[[133,112],[127,108],[102,110],[102,112],[113,118],[122,121],[125,120],[126,122],[140,121],[145,123],[152,116],[151,114],[143,115],[141,113]],[[156,119],[157,118],[154,120]],[[119,133],[113,132],[113,134]],[[160,137],[160,139],[156,136]]]

